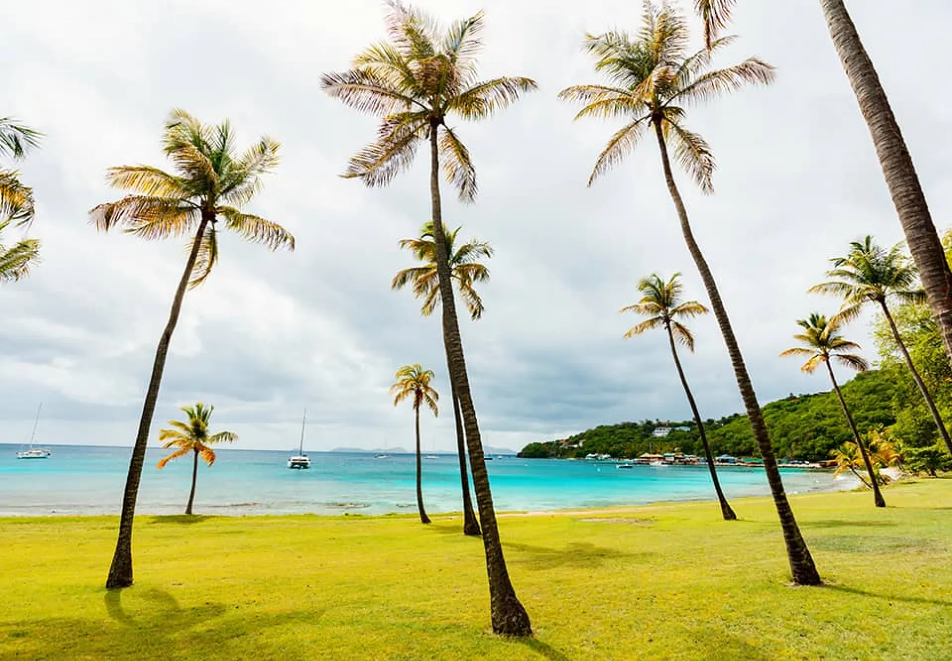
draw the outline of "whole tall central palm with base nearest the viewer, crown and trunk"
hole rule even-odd
[[[492,628],[507,635],[530,635],[528,614],[516,597],[506,570],[479,423],[469,390],[443,224],[440,168],[442,165],[460,200],[473,202],[476,169],[469,150],[455,129],[446,124],[447,118],[455,115],[463,120],[486,119],[524,92],[535,89],[536,84],[528,78],[479,80],[477,56],[483,47],[482,12],[442,29],[423,12],[398,0],[390,0],[387,6],[388,41],[358,54],[353,68],[343,73],[326,73],[321,83],[328,94],[347,106],[382,117],[377,140],[350,159],[346,177],[359,178],[367,186],[387,185],[412,164],[420,144],[429,142],[431,220],[446,362],[466,428],[469,466],[486,551]]]

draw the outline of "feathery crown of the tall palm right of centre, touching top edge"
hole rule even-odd
[[[709,49],[691,54],[684,14],[666,3],[656,7],[650,0],[645,0],[644,23],[635,38],[624,31],[586,35],[585,49],[596,57],[595,68],[605,73],[610,85],[568,87],[559,98],[585,104],[576,119],[629,120],[599,154],[588,185],[620,163],[645,132],[658,125],[678,164],[705,193],[713,192],[714,155],[704,138],[684,126],[684,107],[747,84],[767,84],[774,77],[774,68],[757,58],[711,70],[712,54],[733,41],[723,37]]]

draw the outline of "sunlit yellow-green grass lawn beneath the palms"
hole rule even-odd
[[[489,629],[482,544],[437,516],[0,519],[0,659],[952,659],[952,479],[795,496],[826,581],[793,588],[771,503],[506,515],[536,637]]]

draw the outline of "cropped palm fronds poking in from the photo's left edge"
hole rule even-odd
[[[10,117],[0,117],[0,156],[20,159],[38,146],[41,134]],[[20,181],[14,169],[0,168],[0,237],[11,226],[29,225],[35,213],[33,190]],[[39,262],[38,239],[22,239],[5,246],[0,243],[0,282],[15,282],[30,273]]]

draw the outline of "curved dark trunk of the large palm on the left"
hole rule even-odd
[[[149,379],[149,388],[146,390],[146,400],[142,405],[142,416],[139,418],[139,431],[135,436],[135,445],[132,447],[132,457],[129,459],[129,473],[126,476],[126,489],[122,498],[122,513],[119,515],[119,537],[116,540],[115,553],[112,554],[112,564],[109,566],[109,577],[106,587],[128,588],[132,585],[132,519],[135,515],[135,498],[139,494],[139,479],[142,477],[142,465],[146,459],[146,445],[149,443],[149,427],[155,413],[155,401],[159,397],[159,385],[162,383],[162,372],[166,367],[166,355],[169,353],[169,342],[178,323],[179,313],[182,311],[182,300],[188,289],[191,271],[195,267],[198,251],[202,246],[202,237],[211,218],[202,215],[202,222],[195,233],[191,252],[188,253],[188,262],[175,298],[172,300],[172,309],[166,329],[162,331],[159,345],[155,349],[155,360],[152,362],[152,376]]]

